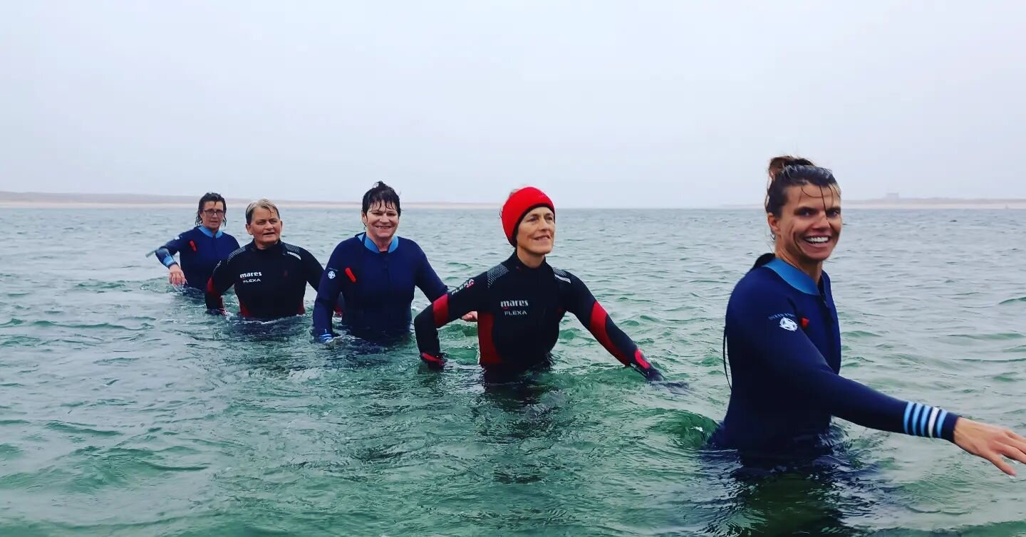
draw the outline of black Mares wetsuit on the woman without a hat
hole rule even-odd
[[[239,309],[247,319],[278,319],[303,315],[303,297],[309,283],[320,282],[320,262],[310,252],[278,242],[261,250],[250,242],[218,263],[206,286],[206,307],[224,312],[221,295],[235,286]]]

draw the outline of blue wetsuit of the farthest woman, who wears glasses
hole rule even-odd
[[[154,253],[157,255],[157,260],[168,268],[172,264],[179,264],[179,261],[174,260],[174,254],[180,254],[186,285],[205,289],[206,281],[213,274],[213,267],[238,248],[239,242],[235,237],[221,230],[213,234],[210,230],[197,225],[167,241],[167,244],[157,248]]]

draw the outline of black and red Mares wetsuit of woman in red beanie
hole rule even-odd
[[[475,309],[480,364],[486,369],[517,371],[547,364],[559,336],[559,322],[569,312],[625,366],[659,378],[659,371],[613,323],[581,280],[548,262],[530,268],[515,253],[417,316],[417,345],[429,366],[441,367],[445,362],[438,328]]]

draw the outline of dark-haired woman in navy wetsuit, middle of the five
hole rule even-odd
[[[336,311],[350,333],[363,339],[409,334],[415,288],[428,300],[447,291],[420,245],[396,235],[401,216],[399,195],[388,184],[379,181],[364,193],[365,230],[334,247],[317,288],[313,333],[319,341],[338,336],[331,326]]]

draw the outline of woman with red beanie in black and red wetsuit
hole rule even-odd
[[[559,321],[569,312],[625,366],[648,380],[662,380],[588,287],[546,262],[556,235],[556,209],[545,193],[534,187],[514,191],[503,205],[502,221],[506,239],[516,249],[513,255],[442,295],[413,321],[426,364],[439,369],[445,365],[438,328],[476,309],[485,370],[519,372],[549,365]]]

